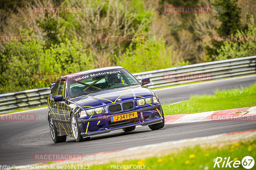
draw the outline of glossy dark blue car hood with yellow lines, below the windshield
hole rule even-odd
[[[83,106],[100,107],[108,104],[122,103],[129,100],[136,100],[152,97],[150,89],[143,86],[129,86],[115,89],[108,89],[91,94],[77,96],[71,99],[72,102]],[[118,101],[122,99],[121,101]]]

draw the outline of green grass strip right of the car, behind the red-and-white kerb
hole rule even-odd
[[[232,90],[215,90],[214,95],[191,96],[177,104],[164,104],[164,115],[190,114],[256,106],[256,84]]]

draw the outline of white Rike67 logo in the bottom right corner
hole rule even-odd
[[[223,162],[222,162],[223,161]],[[251,156],[245,156],[242,159],[242,162],[240,160],[231,160],[230,161],[230,157],[225,157],[224,159],[222,159],[221,157],[217,157],[214,163],[214,168],[218,167],[218,168],[238,168],[239,166],[243,166],[245,169],[251,169],[254,166],[254,159]]]

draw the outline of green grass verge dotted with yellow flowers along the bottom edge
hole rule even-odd
[[[211,170],[218,169],[214,166],[214,159],[217,157],[230,157],[231,160],[239,160],[245,156],[251,156],[256,158],[256,140],[251,139],[248,141],[240,141],[234,145],[224,145],[223,147],[190,147],[184,148],[181,151],[170,153],[161,157],[149,157],[146,159],[133,159],[125,160],[123,162],[111,161],[104,165],[92,165],[89,169],[93,170],[110,170],[111,165],[145,165],[146,170]],[[219,163],[222,166],[223,160]],[[230,164],[229,169],[243,169],[244,167],[240,165],[238,168],[233,168],[233,162]],[[255,165],[254,165],[255,167]],[[112,167],[113,169],[113,167]],[[131,168],[132,170],[134,168]],[[222,168],[225,169],[225,168]],[[253,168],[252,168],[253,169]]]

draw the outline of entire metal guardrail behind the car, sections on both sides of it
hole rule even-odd
[[[133,75],[140,80],[149,77],[149,88],[158,88],[256,73],[256,56],[165,68]],[[0,95],[0,113],[46,105],[50,88],[32,89]]]

